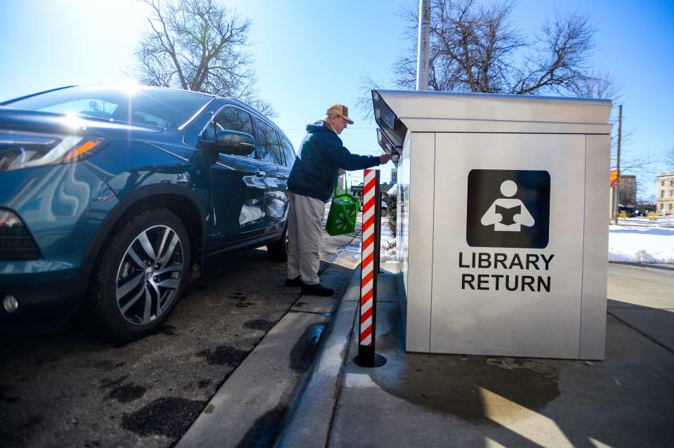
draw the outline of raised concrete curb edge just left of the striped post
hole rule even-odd
[[[275,447],[325,447],[341,389],[359,297],[360,267],[354,270],[312,368],[298,388],[288,422]]]

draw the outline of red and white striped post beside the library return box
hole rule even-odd
[[[381,232],[379,170],[366,169],[363,186],[363,242],[361,249],[360,319],[356,364],[378,367],[384,358],[374,353],[377,315],[377,274]],[[382,362],[383,361],[383,362]]]

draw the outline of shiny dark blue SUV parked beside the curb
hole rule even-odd
[[[157,329],[206,256],[286,256],[295,152],[229,98],[70,86],[0,103],[0,325]]]

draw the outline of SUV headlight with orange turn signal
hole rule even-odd
[[[0,171],[78,162],[104,144],[103,138],[0,132]]]

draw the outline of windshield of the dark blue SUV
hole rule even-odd
[[[211,96],[162,88],[70,87],[4,103],[4,107],[178,128]]]

